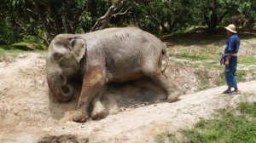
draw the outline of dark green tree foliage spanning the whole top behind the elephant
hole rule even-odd
[[[112,3],[111,0],[3,0],[0,44],[21,42],[26,37],[49,44],[59,33],[88,32]],[[120,3],[104,27],[138,26],[158,36],[183,33],[194,26],[207,25],[213,31],[216,26],[236,22],[237,26],[253,28],[254,9],[254,0],[131,0]]]

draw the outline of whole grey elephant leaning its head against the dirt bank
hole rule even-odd
[[[59,34],[49,44],[46,77],[49,93],[59,101],[73,98],[80,86],[73,121],[106,116],[100,101],[108,83],[149,78],[167,94],[167,101],[180,92],[161,72],[166,46],[154,35],[137,27],[107,28],[84,34]],[[89,114],[89,106],[93,106]]]

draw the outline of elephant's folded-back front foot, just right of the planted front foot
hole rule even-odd
[[[103,118],[108,115],[108,112],[106,108],[102,105],[101,102],[97,102],[96,105],[93,108],[93,111],[91,112],[91,118],[97,119],[97,118]]]

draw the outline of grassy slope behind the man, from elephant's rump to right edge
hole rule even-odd
[[[249,34],[241,31],[241,51],[239,53],[239,66],[236,72],[239,82],[256,79],[256,67],[249,70],[243,68],[256,66],[256,52],[247,54],[246,51],[254,47],[256,51],[256,32]],[[183,35],[163,37],[166,43],[171,61],[180,66],[191,67],[191,72],[201,79],[201,87],[198,89],[209,89],[213,86],[224,85],[224,66],[219,66],[220,55],[224,50],[227,37],[225,31],[220,30],[218,34],[208,35],[200,29]],[[196,69],[196,70],[194,70]],[[212,72],[218,73],[218,77],[212,77]],[[212,82],[206,78],[212,77]],[[211,82],[211,83],[209,83]],[[210,86],[211,85],[211,86]]]

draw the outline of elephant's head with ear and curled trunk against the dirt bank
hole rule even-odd
[[[78,89],[80,60],[86,51],[86,41],[72,34],[61,34],[49,44],[46,56],[46,77],[49,93],[59,101],[73,98]]]

